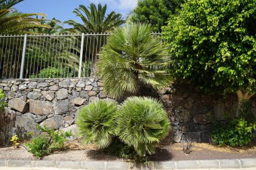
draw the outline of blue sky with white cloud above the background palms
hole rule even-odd
[[[64,22],[68,19],[79,21],[73,10],[81,4],[88,6],[90,3],[106,3],[108,13],[116,11],[126,17],[137,5],[137,0],[24,0],[14,7],[24,13],[45,13],[48,19],[55,17]]]

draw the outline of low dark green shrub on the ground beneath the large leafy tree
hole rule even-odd
[[[212,142],[219,146],[242,146],[251,142],[253,130],[255,130],[254,123],[249,123],[247,120],[237,118],[214,130],[211,138]]]

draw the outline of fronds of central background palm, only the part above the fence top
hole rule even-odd
[[[65,23],[73,26],[71,30],[76,30],[79,33],[109,32],[125,23],[120,13],[112,11],[106,14],[106,5],[102,7],[100,3],[98,8],[94,3],[91,3],[90,7],[79,5],[79,8],[76,8],[73,13],[80,17],[83,23],[80,24],[74,20],[68,20]]]

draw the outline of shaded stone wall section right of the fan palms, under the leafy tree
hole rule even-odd
[[[236,116],[236,95],[203,95],[190,85],[173,84],[158,91],[172,123],[172,140],[210,142],[209,132],[226,116]],[[256,97],[251,99],[256,119]]]

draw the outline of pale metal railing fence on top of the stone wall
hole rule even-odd
[[[109,35],[0,36],[0,79],[95,77],[98,54]]]

